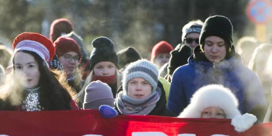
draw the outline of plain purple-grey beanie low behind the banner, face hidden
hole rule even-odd
[[[85,88],[83,109],[97,109],[100,105],[113,107],[112,89],[101,81],[93,81]]]

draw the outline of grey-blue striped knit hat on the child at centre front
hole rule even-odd
[[[141,59],[130,63],[123,73],[122,86],[125,92],[128,92],[128,81],[141,77],[152,86],[152,92],[157,89],[159,70],[156,65],[146,59]]]

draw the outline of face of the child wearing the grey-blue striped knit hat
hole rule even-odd
[[[143,99],[151,94],[152,87],[145,79],[136,77],[128,81],[128,96]]]

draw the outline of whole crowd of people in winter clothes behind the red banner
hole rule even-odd
[[[235,46],[232,36],[231,21],[216,15],[184,25],[175,48],[155,44],[150,60],[133,47],[116,52],[108,37],[95,38],[87,57],[72,22],[60,18],[50,39],[24,32],[13,51],[0,46],[0,110],[228,118],[245,131],[272,121],[272,45],[243,37]]]

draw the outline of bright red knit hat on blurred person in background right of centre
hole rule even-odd
[[[160,41],[152,48],[150,61],[153,63],[158,53],[170,53],[170,51],[172,50],[174,50],[174,48],[172,47],[171,44],[167,43],[164,40]]]

